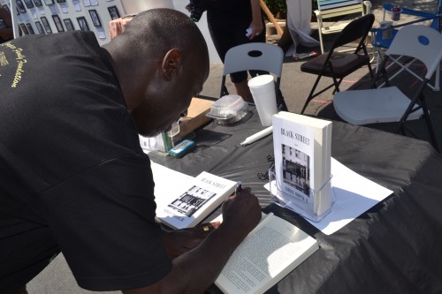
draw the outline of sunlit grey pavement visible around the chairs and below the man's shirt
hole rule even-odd
[[[379,0],[377,0],[379,1]],[[376,16],[376,23],[374,27],[378,26],[378,22],[382,19],[382,4],[377,1],[373,2],[372,12]],[[410,1],[402,0],[396,1],[397,4],[401,6],[414,7],[415,9],[421,9],[424,11],[434,11],[435,4],[434,1]],[[408,20],[403,17],[403,21]],[[312,27],[315,27],[316,23],[312,23]],[[325,48],[330,47],[333,41],[333,35],[325,37]],[[285,97],[287,108],[291,112],[299,113],[304,102],[309,95],[309,91],[316,79],[316,76],[309,73],[301,72],[301,64],[305,62],[293,61],[292,57],[286,57],[285,63],[283,64],[283,73],[281,79],[281,91]],[[373,64],[374,65],[374,64]],[[210,64],[210,76],[209,79],[204,84],[202,90],[202,95],[210,97],[218,97],[221,77],[223,72],[223,64]],[[434,78],[433,78],[434,79]],[[324,78],[321,85],[325,85],[331,82],[331,79]],[[399,79],[395,79],[393,85],[398,83],[400,86],[405,86],[407,91],[412,92],[415,85],[415,78],[409,77],[408,75],[401,75]],[[370,85],[370,75],[367,67],[362,68],[350,76],[348,76],[341,85],[341,91],[347,89],[357,89],[357,88],[368,88]],[[227,82],[227,87],[230,89],[231,93],[232,84]],[[436,136],[438,138],[438,146],[442,149],[442,94],[441,92],[432,91],[430,88],[426,88],[424,94],[427,98],[429,104],[429,109],[431,111],[431,120],[436,131]],[[312,102],[309,103],[306,115],[332,119],[340,121],[340,118],[336,115],[332,105],[332,93],[331,90],[326,91],[316,97]],[[396,124],[371,124],[365,127],[376,128],[381,132],[392,132]],[[417,139],[423,139],[429,141],[428,134],[426,132],[425,123],[423,120],[409,122],[408,129],[413,132]],[[398,150],[400,152],[400,150]],[[104,244],[103,244],[104,245]],[[82,290],[75,282],[72,272],[65,262],[63,254],[59,254],[55,260],[53,260],[50,265],[45,268],[40,275],[37,275],[33,281],[27,284],[27,290],[29,294],[88,294],[88,293],[104,293],[104,292],[91,292],[88,290]],[[106,292],[106,293],[120,293],[120,291]]]

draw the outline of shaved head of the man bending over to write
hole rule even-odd
[[[200,29],[171,9],[141,12],[103,49],[143,135],[168,130],[209,75],[209,51]]]

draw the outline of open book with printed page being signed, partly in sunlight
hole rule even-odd
[[[263,293],[319,248],[316,239],[269,214],[232,254],[215,284],[226,294]]]

